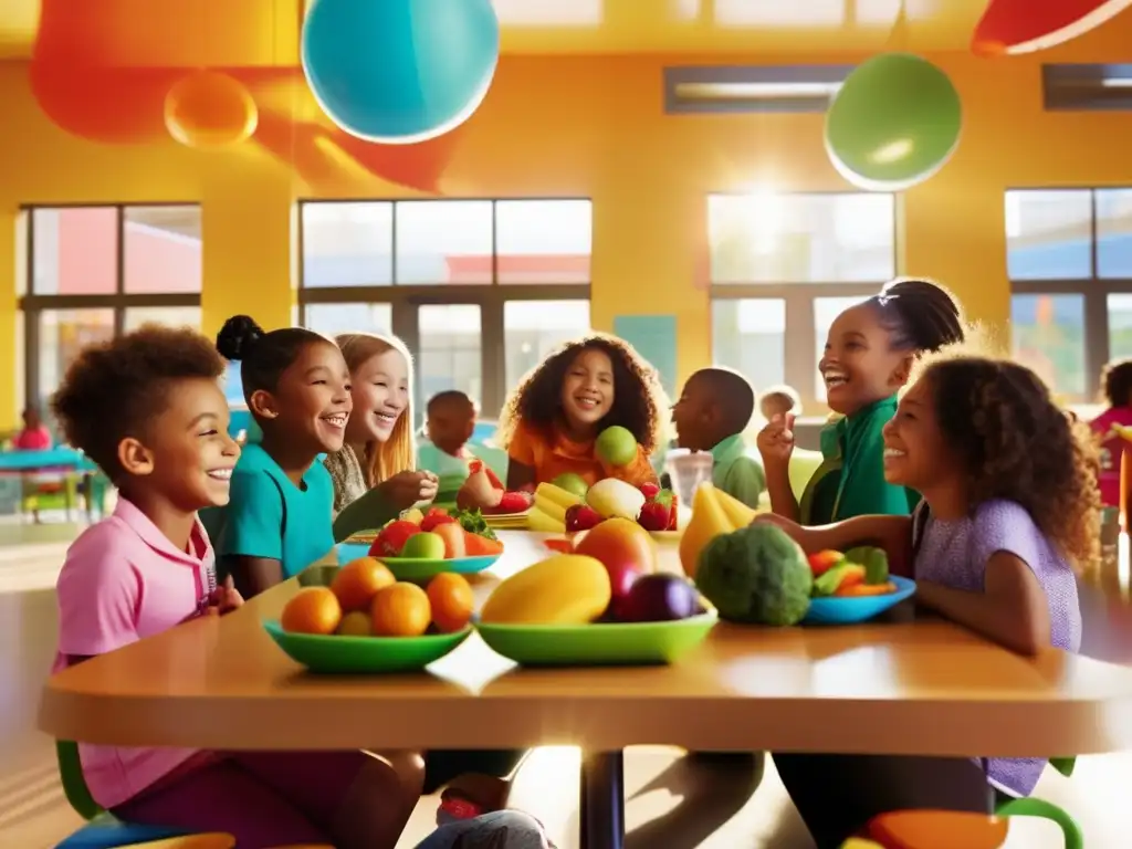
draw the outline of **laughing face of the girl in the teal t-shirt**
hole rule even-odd
[[[346,361],[329,342],[305,345],[275,393],[257,392],[251,402],[267,427],[295,447],[332,454],[342,448],[352,409]]]

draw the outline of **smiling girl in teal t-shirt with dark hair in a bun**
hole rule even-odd
[[[248,410],[263,431],[240,455],[228,507],[207,520],[223,571],[249,598],[334,548],[334,484],[316,461],[342,448],[350,372],[325,336],[301,327],[265,333],[248,316],[228,319],[216,348],[240,362]]]

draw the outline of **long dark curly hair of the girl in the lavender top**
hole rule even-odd
[[[944,439],[969,470],[972,506],[1002,498],[1030,514],[1078,568],[1099,554],[1098,451],[1089,427],[1024,366],[954,354],[926,365]]]

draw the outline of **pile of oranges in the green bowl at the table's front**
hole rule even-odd
[[[283,608],[280,625],[293,634],[340,636],[453,633],[471,621],[474,601],[463,575],[437,575],[422,590],[362,557],[338,569],[329,586],[300,590]]]

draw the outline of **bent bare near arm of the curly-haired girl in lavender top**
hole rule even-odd
[[[1049,645],[1049,607],[1029,565],[1009,551],[987,561],[983,592],[920,581],[916,598],[925,607],[1020,654]]]

